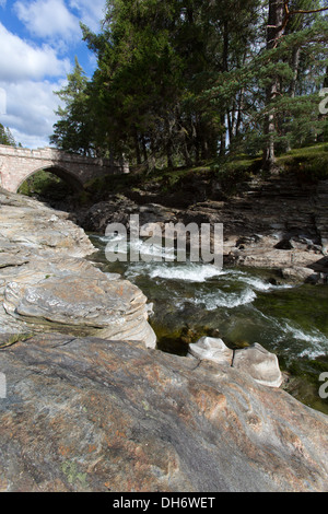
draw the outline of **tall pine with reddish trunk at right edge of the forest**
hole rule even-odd
[[[266,89],[263,168],[274,170],[276,143],[280,137],[279,117],[283,117],[285,112],[289,113],[289,124],[284,125],[285,135],[288,128],[290,135],[302,140],[300,130],[297,133],[300,127],[303,135],[311,131],[317,133],[317,98],[311,97],[313,91],[308,90],[302,97],[296,97],[296,87],[302,51],[306,55],[311,47],[313,55],[316,48],[317,55],[321,54],[323,57],[323,40],[327,39],[327,23],[321,23],[317,16],[311,21],[307,19],[306,22],[304,16],[313,16],[327,10],[328,8],[320,7],[319,1],[312,2],[312,9],[308,9],[308,2],[303,0],[269,0],[267,52],[270,55],[271,51],[269,62],[276,66],[271,68],[270,82]],[[289,87],[284,90],[286,81]],[[288,149],[291,148],[290,142]]]

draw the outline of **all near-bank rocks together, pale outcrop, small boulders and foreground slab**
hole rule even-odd
[[[1,191],[0,221],[1,491],[327,489],[328,417],[274,355],[159,351],[144,294],[66,214]]]

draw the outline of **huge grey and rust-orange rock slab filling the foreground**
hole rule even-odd
[[[1,491],[327,490],[328,417],[241,370],[54,334],[0,357]]]

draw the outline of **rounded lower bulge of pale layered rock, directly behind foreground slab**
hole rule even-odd
[[[7,281],[3,307],[25,330],[57,329],[156,344],[143,293],[83,259],[34,257]]]

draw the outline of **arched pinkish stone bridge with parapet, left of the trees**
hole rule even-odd
[[[83,189],[92,178],[109,174],[129,173],[127,163],[107,159],[84,157],[54,148],[30,150],[0,144],[0,187],[16,192],[34,173],[44,170],[66,180],[75,190]]]

